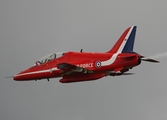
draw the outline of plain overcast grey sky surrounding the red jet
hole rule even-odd
[[[6,79],[48,53],[108,51],[137,25],[135,51],[167,51],[165,0],[1,0],[1,120],[166,120],[166,60],[142,62],[132,76],[62,84]]]

